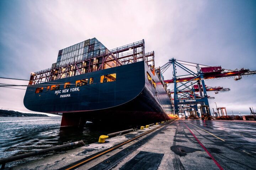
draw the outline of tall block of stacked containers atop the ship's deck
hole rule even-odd
[[[69,63],[87,60],[103,53],[109,52],[104,45],[101,44],[96,38],[82,41],[73,46],[59,50],[56,64],[53,63],[55,68],[63,67]]]

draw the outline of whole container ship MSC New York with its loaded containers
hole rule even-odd
[[[62,113],[61,128],[169,120],[171,92],[154,59],[144,40],[112,50],[96,38],[82,41],[59,50],[51,68],[31,73],[24,105]]]

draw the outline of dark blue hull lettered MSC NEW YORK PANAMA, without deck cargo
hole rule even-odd
[[[114,73],[116,81],[100,82],[101,75]],[[152,80],[148,81],[147,74]],[[90,78],[94,79],[92,84],[72,85],[79,79]],[[66,82],[71,82],[71,85],[64,89],[63,84]],[[144,61],[38,85],[45,87],[53,83],[61,84],[58,90],[35,93],[38,87],[28,86],[24,105],[31,111],[63,113],[62,127],[82,127],[86,121],[130,125],[156,123],[170,119],[173,113],[170,98],[162,83]]]

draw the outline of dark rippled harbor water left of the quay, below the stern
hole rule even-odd
[[[0,117],[0,158],[36,151],[83,140],[85,144],[97,142],[98,137],[107,134],[91,127],[83,130],[60,130],[62,117]],[[111,131],[113,132],[113,131]],[[8,167],[30,162],[54,154],[50,152],[15,162]]]

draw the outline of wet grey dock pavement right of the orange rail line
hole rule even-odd
[[[109,164],[113,170],[256,170],[255,121],[178,119],[166,124],[119,163],[112,163],[119,154],[115,151],[78,169]]]

